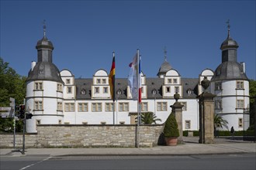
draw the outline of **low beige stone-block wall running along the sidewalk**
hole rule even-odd
[[[140,125],[140,147],[152,147],[160,140],[163,125]],[[22,134],[16,134],[22,147]],[[41,124],[37,134],[26,134],[26,148],[135,147],[135,125]],[[13,147],[13,134],[0,134],[0,148]]]

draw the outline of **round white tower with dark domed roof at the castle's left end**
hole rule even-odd
[[[63,88],[60,71],[52,63],[54,46],[46,36],[36,43],[37,62],[32,63],[26,79],[26,110],[33,114],[26,120],[26,131],[36,132],[36,124],[61,124],[64,114]]]

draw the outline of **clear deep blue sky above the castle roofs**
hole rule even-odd
[[[171,66],[182,77],[196,78],[220,65],[230,19],[230,35],[240,46],[237,62],[245,62],[248,78],[256,80],[255,6],[255,0],[1,0],[0,56],[27,76],[46,19],[54,64],[76,78],[92,78],[99,69],[109,73],[112,51],[116,77],[127,77],[137,49],[144,74],[156,77],[164,46]]]

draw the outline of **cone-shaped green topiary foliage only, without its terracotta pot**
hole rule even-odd
[[[172,112],[164,123],[164,137],[179,137],[178,124]]]

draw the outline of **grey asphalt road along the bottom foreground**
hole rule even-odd
[[[1,170],[254,170],[254,153],[237,155],[188,155],[188,156],[57,156],[25,155],[1,156]]]

